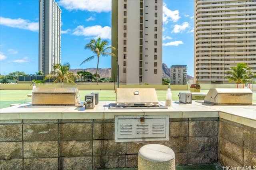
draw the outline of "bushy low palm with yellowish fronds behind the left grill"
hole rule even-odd
[[[53,83],[61,82],[63,83],[64,80],[67,81],[67,83],[74,83],[73,80],[75,78],[80,78],[78,74],[75,74],[73,72],[69,72],[70,64],[56,64],[53,66],[54,70],[50,72],[50,74],[46,75],[44,80],[47,79],[54,79]]]

